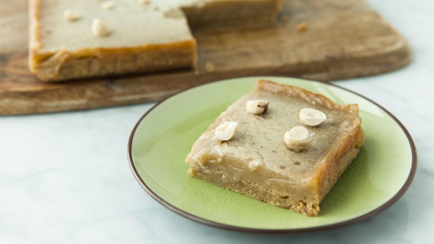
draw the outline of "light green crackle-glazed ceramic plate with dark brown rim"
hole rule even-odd
[[[320,204],[317,217],[273,207],[189,176],[193,142],[258,77],[196,86],[158,103],[137,122],[128,157],[139,184],[168,209],[209,226],[251,232],[305,232],[354,223],[398,200],[416,169],[414,143],[388,111],[329,83],[261,77],[323,93],[337,103],[358,103],[366,142]]]

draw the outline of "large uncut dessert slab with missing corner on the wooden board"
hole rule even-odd
[[[275,22],[281,10],[280,0],[84,4],[29,2],[29,68],[41,81],[193,69],[197,46],[188,18],[202,28],[255,26]],[[70,8],[77,17],[66,17]]]

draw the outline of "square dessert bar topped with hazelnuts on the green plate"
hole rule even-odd
[[[252,102],[259,112],[252,110]],[[300,115],[303,108],[318,114]],[[305,121],[312,119],[315,124]],[[321,200],[365,141],[360,124],[357,104],[337,104],[319,93],[259,80],[194,142],[186,159],[188,173],[317,216]],[[300,127],[305,135],[289,133]],[[300,141],[306,138],[307,143]]]

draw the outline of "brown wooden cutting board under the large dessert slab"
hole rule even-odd
[[[27,1],[0,0],[0,115],[143,103],[240,76],[321,81],[369,76],[409,63],[403,37],[362,0],[284,0],[274,26],[193,30],[197,70],[47,84],[27,67]],[[297,30],[306,23],[304,31]]]

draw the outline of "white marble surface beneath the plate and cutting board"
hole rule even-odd
[[[215,229],[162,207],[134,179],[126,144],[153,104],[0,117],[0,243],[429,243],[434,231],[434,3],[369,1],[408,40],[412,63],[336,81],[394,114],[419,154],[407,193],[334,230],[258,235]]]

